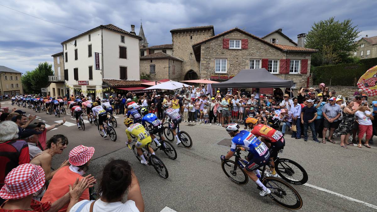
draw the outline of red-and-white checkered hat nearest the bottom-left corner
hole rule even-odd
[[[26,197],[41,189],[44,181],[42,167],[31,163],[21,164],[6,175],[0,197],[6,200]]]

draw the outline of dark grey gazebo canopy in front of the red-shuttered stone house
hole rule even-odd
[[[265,68],[242,69],[236,76],[222,83],[213,83],[214,88],[291,88],[293,80],[283,80]]]

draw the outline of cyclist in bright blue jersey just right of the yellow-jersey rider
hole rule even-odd
[[[148,128],[150,132],[150,137],[152,137],[153,141],[156,142],[157,147],[161,146],[161,143],[157,140],[157,138],[154,135],[158,133],[158,136],[161,138],[161,140],[165,140],[164,137],[162,137],[164,127],[162,126],[161,121],[157,118],[155,114],[148,113],[147,108],[142,108],[141,114],[144,115],[141,119],[141,124],[143,124],[144,127],[147,127],[147,123],[150,124],[150,127]]]

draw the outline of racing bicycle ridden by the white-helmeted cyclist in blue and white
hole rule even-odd
[[[222,161],[221,167],[222,171],[224,171],[225,175],[227,175],[230,180],[234,183],[244,185],[249,181],[249,177],[244,171],[244,167],[248,164],[248,161],[241,158],[240,151],[241,148],[236,150],[234,161]],[[264,186],[271,190],[271,194],[268,194],[268,196],[282,207],[291,210],[300,209],[302,207],[302,198],[300,194],[292,186],[279,178],[264,177],[266,165],[262,168],[261,178],[259,178],[259,180]],[[258,189],[262,190],[259,186]]]

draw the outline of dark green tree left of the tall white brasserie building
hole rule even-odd
[[[48,62],[39,63],[37,68],[32,71],[27,71],[21,77],[21,83],[26,92],[32,94],[39,94],[41,88],[46,88],[48,76],[54,75],[52,65]]]

